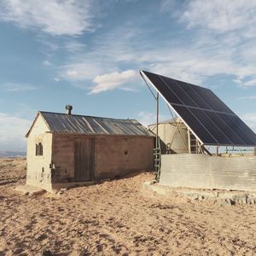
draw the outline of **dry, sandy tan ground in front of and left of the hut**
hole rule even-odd
[[[256,254],[256,206],[149,194],[149,173],[29,197],[25,166],[0,159],[1,256]]]

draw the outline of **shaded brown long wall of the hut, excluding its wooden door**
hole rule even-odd
[[[154,169],[154,137],[86,136],[53,134],[53,183],[74,181],[74,140],[95,138],[94,177],[122,177]],[[67,180],[67,181],[65,181]]]

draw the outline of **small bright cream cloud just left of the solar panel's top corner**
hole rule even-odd
[[[90,90],[90,94],[96,94],[105,90],[113,90],[122,86],[125,83],[131,82],[138,76],[134,70],[126,70],[121,73],[113,72],[96,76],[93,82],[96,83]]]

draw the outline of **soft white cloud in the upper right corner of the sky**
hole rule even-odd
[[[216,32],[253,28],[256,2],[251,0],[190,1],[181,17],[188,26],[205,26]],[[254,35],[255,37],[255,35]]]

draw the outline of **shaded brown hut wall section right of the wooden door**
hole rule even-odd
[[[96,137],[95,177],[152,171],[154,137]]]

